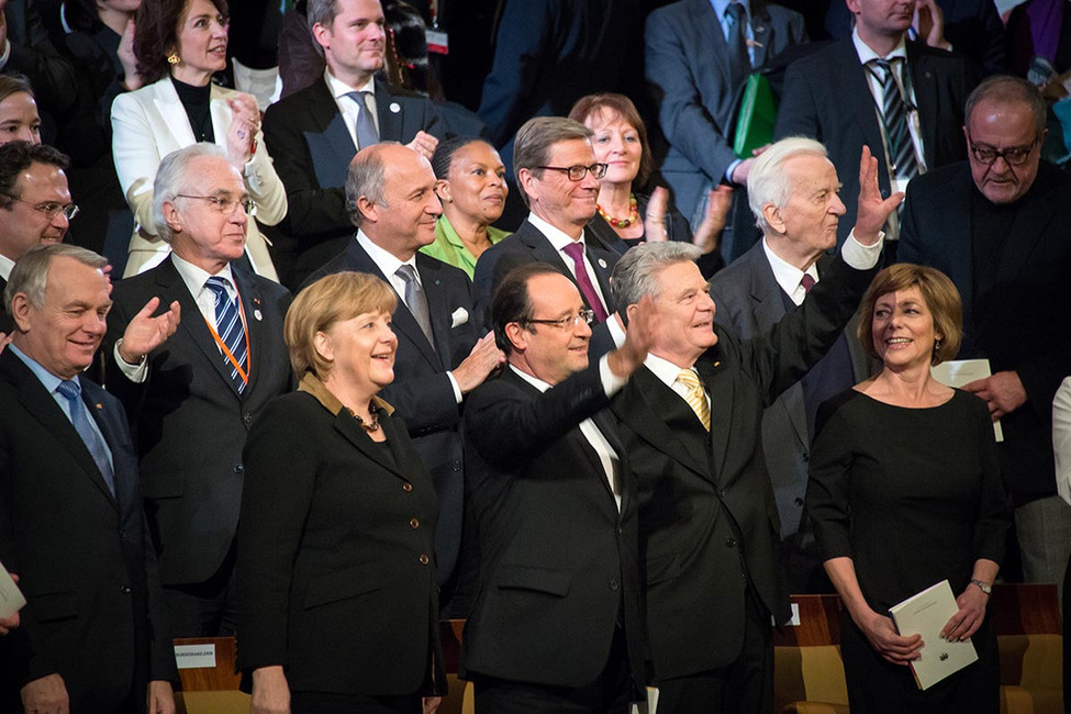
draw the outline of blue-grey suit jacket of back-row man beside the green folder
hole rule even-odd
[[[751,2],[751,31],[761,67],[807,41],[803,15],[766,0]],[[717,186],[734,160],[733,137],[744,87],[734,86],[728,44],[710,0],[680,0],[647,18],[647,82],[659,105],[669,153],[662,177],[690,217],[703,190]]]

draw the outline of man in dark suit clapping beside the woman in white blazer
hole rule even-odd
[[[357,150],[393,141],[431,158],[439,131],[427,98],[376,78],[386,47],[379,0],[310,0],[308,16],[327,64],[323,80],[272,104],[264,118],[265,143],[287,187],[282,231],[294,254],[303,254],[294,283],[353,233],[343,187]]]

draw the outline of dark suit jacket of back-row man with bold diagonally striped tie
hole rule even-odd
[[[907,43],[907,65],[928,170],[967,158],[963,103],[978,81],[973,65],[960,55],[915,42]],[[774,138],[810,136],[829,149],[847,209],[837,228],[838,245],[844,245],[856,224],[863,144],[878,158],[882,197],[890,194],[889,165],[866,71],[850,36],[793,63],[784,76],[773,132]]]

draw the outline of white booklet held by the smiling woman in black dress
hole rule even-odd
[[[950,643],[940,636],[945,625],[957,612],[959,605],[956,604],[952,588],[947,580],[941,580],[889,609],[901,635],[923,636],[919,657],[911,663],[918,689],[929,689],[978,659],[978,652],[969,637],[963,642]]]

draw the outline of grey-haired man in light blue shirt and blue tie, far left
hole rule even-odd
[[[26,595],[0,638],[5,712],[175,711],[134,446],[122,405],[81,376],[105,331],[105,264],[34,247],[5,291],[18,327],[0,354],[0,559]]]

